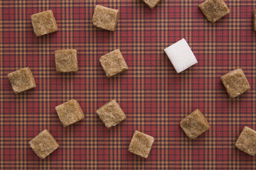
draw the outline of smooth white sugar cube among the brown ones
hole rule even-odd
[[[171,64],[174,65],[174,69],[177,73],[183,72],[185,69],[188,69],[188,67],[198,63],[195,55],[184,38],[173,45],[166,47],[164,51],[169,57]]]

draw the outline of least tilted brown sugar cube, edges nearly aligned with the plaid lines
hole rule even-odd
[[[55,50],[56,72],[77,72],[77,50]]]

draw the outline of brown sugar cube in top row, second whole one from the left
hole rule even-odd
[[[114,31],[118,17],[119,10],[97,5],[92,16],[92,24],[97,28]]]

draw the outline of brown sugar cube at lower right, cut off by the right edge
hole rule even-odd
[[[245,126],[237,142],[235,142],[235,147],[238,147],[241,151],[255,156],[256,154],[256,131]]]

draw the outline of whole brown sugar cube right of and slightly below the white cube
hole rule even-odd
[[[245,74],[242,72],[242,69],[235,69],[228,74],[225,74],[223,77],[220,77],[220,79],[230,98],[235,98],[250,90],[250,84],[247,81]]]

